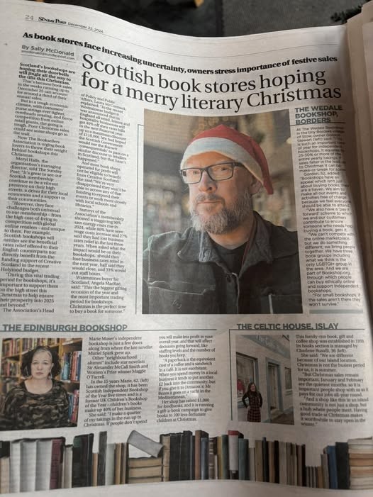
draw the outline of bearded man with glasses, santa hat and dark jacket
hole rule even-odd
[[[191,140],[180,174],[192,227],[149,239],[143,313],[301,313],[297,235],[252,210],[262,185],[273,193],[260,145],[218,125]]]

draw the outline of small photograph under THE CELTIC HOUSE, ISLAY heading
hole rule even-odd
[[[238,421],[294,425],[289,335],[235,337]]]

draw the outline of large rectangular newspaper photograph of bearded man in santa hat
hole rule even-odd
[[[145,111],[144,314],[302,313],[289,111]]]

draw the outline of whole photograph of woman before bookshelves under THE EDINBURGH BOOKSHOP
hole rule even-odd
[[[82,338],[4,338],[0,430],[77,425]]]

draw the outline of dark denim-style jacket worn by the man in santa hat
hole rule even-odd
[[[297,235],[255,216],[240,274],[221,262],[207,233],[188,228],[152,236],[144,252],[143,313],[301,313]]]

